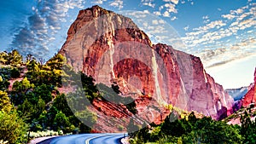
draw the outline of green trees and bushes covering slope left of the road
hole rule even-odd
[[[65,65],[62,55],[42,64],[32,55],[23,60],[16,50],[1,52],[0,66],[0,141],[26,143],[48,133],[88,133],[90,127],[83,122],[96,123],[96,114],[86,107],[94,99],[106,101],[105,94],[98,91],[93,78]],[[73,93],[59,91],[62,86],[68,88],[81,82],[82,88]],[[127,107],[136,110],[135,103]]]

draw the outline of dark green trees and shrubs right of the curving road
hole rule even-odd
[[[131,144],[139,143],[255,143],[256,124],[245,112],[241,117],[241,126],[229,125],[224,121],[215,121],[209,117],[196,118],[191,112],[188,118],[173,122],[172,112],[162,124],[149,124],[147,127],[130,133]]]

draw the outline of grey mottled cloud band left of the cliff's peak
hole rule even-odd
[[[19,49],[22,55],[46,57],[49,43],[55,40],[55,33],[61,30],[60,21],[66,22],[68,10],[82,9],[83,3],[83,0],[38,0],[38,5],[32,8],[34,14],[27,18],[28,23],[15,34],[12,47]]]

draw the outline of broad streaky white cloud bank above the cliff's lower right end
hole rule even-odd
[[[221,15],[222,19],[187,32],[186,37],[182,37],[183,42],[194,49],[194,55],[200,56],[207,68],[256,55],[255,12],[253,3],[230,10],[229,14]],[[209,20],[209,17],[206,15],[202,19]]]

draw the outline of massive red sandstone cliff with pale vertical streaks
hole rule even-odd
[[[92,76],[96,83],[110,86],[114,82],[121,95],[132,93],[137,103],[136,117],[147,122],[160,123],[169,114],[162,107],[167,104],[215,119],[232,112],[233,99],[205,72],[200,58],[166,44],[152,44],[131,19],[99,6],[79,11],[59,53],[75,71]],[[94,103],[95,107],[105,105]],[[112,113],[123,108],[115,106]],[[138,119],[136,122],[142,123]]]

